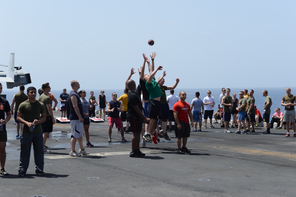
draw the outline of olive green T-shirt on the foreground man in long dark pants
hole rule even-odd
[[[48,97],[49,98],[49,97]],[[23,119],[27,122],[34,122],[34,120],[40,120],[40,114],[45,113],[44,104],[37,101],[30,103],[28,100],[20,104],[17,113],[23,114]],[[35,125],[34,130],[31,132],[27,125],[22,127],[22,133],[42,133],[41,124]]]

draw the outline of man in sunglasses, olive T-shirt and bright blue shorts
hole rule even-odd
[[[246,130],[246,122],[244,121],[246,114],[247,114],[247,110],[246,110],[246,104],[247,104],[247,100],[244,98],[244,92],[240,91],[239,92],[239,106],[236,108],[237,111],[239,111],[239,126],[238,126],[238,130],[234,133],[234,134],[241,134],[240,130],[242,128],[242,125],[244,127],[244,131],[242,132],[243,134],[248,134],[247,130]]]

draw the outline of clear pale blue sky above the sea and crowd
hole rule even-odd
[[[0,64],[15,53],[38,88],[78,80],[85,89],[118,89],[142,53],[151,59],[155,51],[168,86],[180,78],[178,88],[289,87],[294,80],[281,80],[295,76],[295,8],[285,0],[0,0]]]

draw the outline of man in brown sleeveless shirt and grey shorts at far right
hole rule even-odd
[[[293,138],[296,137],[296,125],[295,125],[295,100],[296,100],[296,96],[291,94],[291,88],[286,88],[286,93],[287,95],[283,96],[283,98],[281,99],[281,105],[285,106],[285,110],[284,110],[284,122],[286,122],[287,125],[287,135],[285,137],[289,137],[290,136],[290,118],[291,118],[291,122],[293,125]]]

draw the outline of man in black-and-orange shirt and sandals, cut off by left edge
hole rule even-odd
[[[2,84],[0,83],[0,94],[2,93]],[[10,106],[6,99],[0,96],[0,118],[2,121],[0,122],[2,124],[2,128],[0,130],[0,174],[1,175],[8,175],[7,172],[4,170],[5,161],[6,161],[6,142],[7,142],[7,131],[6,131],[6,123],[10,120],[11,114],[10,114]],[[6,118],[5,118],[6,113]]]

